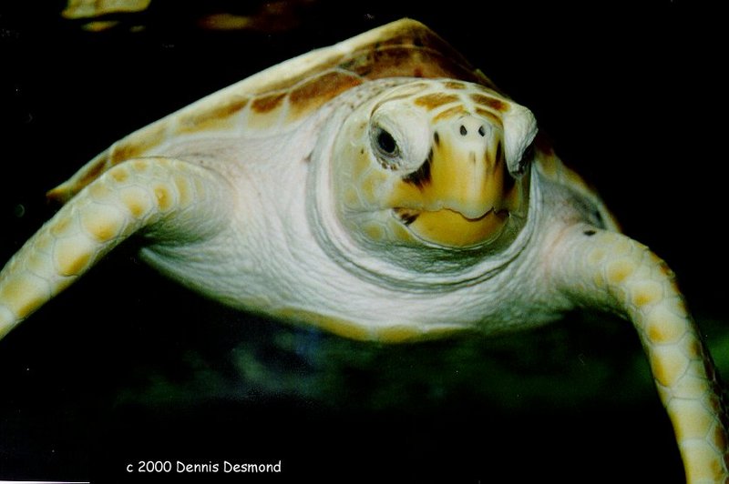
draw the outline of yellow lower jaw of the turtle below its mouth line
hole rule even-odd
[[[395,217],[416,237],[443,247],[472,247],[498,237],[509,217],[508,210],[489,208],[479,217],[456,210],[418,210],[395,207]]]

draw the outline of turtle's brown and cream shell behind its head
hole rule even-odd
[[[110,167],[146,156],[170,138],[236,126],[282,132],[347,89],[402,76],[447,77],[496,90],[440,36],[406,18],[272,66],[141,128],[89,161],[48,197],[65,202]]]

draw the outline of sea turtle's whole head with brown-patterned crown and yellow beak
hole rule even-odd
[[[338,217],[365,243],[502,246],[523,224],[536,132],[528,109],[483,86],[396,86],[359,106],[340,130]]]

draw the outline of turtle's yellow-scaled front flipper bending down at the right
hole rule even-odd
[[[549,257],[560,289],[580,306],[629,318],[638,330],[688,481],[729,481],[722,391],[671,269],[621,234],[578,225],[563,237]]]

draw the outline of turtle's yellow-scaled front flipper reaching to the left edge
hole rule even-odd
[[[228,221],[222,176],[169,158],[139,158],[108,170],[73,197],[0,272],[0,338],[135,232],[211,237]]]

